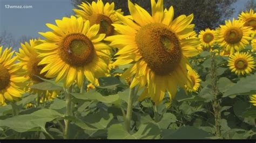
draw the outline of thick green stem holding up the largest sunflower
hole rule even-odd
[[[125,117],[125,128],[127,132],[130,132],[130,124],[131,124],[131,117],[132,117],[132,104],[133,104],[133,97],[135,95],[135,87],[130,88],[129,92],[129,99],[128,99],[128,105],[127,105],[127,111],[126,111],[126,117]]]

